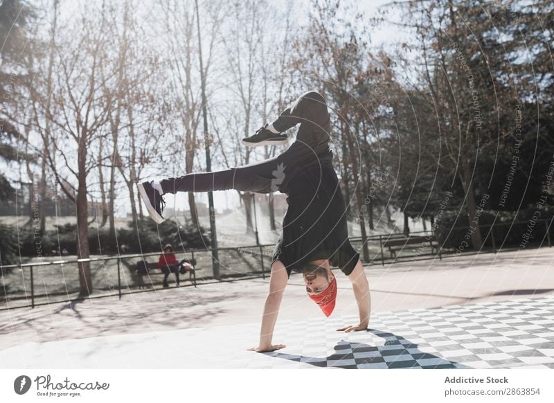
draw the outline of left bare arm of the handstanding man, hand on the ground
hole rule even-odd
[[[260,344],[249,350],[257,352],[274,351],[286,347],[283,344],[271,344],[273,330],[279,314],[279,305],[283,299],[283,292],[287,286],[287,269],[280,260],[271,265],[271,277],[269,278],[269,294],[265,300],[264,314],[262,316],[262,330],[260,331]]]

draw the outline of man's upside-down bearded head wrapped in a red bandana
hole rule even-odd
[[[337,280],[329,260],[312,260],[303,267],[303,277],[308,296],[321,307],[325,316],[329,316],[337,299]]]

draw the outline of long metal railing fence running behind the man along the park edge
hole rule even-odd
[[[528,247],[542,247],[548,244],[551,247],[551,231],[553,220],[535,220],[534,228],[542,226],[543,233],[535,233],[535,242]],[[521,238],[521,229],[518,226],[528,225],[528,222],[481,224],[483,233],[483,247],[474,253],[493,252],[515,247],[511,229],[518,229]],[[501,226],[510,226],[508,231],[500,231]],[[350,242],[360,251],[363,259],[363,247],[366,245],[368,256],[364,265],[385,265],[386,262],[402,260],[420,260],[426,258],[442,258],[443,255],[456,253],[456,244],[468,227],[455,227],[445,233],[431,231],[412,232],[409,236],[404,233],[388,233],[369,235],[365,238],[353,237]],[[495,235],[496,234],[496,235]],[[541,235],[542,234],[542,235]],[[503,235],[503,236],[501,236]],[[409,238],[418,238],[422,242],[410,244],[404,242]],[[391,242],[397,241],[397,242]],[[396,244],[394,253],[387,245]],[[212,276],[212,250],[195,249],[175,252],[177,260],[181,258],[195,259],[197,262],[197,280],[199,284],[236,280],[240,278],[265,278],[269,274],[271,256],[274,244],[261,244],[246,247],[218,248],[220,260],[220,278]],[[137,276],[134,268],[140,260],[153,262],[160,253],[144,253],[134,255],[118,255],[81,260],[51,260],[29,262],[21,265],[0,266],[0,310],[15,307],[35,307],[53,302],[73,301],[82,298],[79,294],[78,263],[89,262],[91,267],[93,294],[87,298],[118,297],[134,292],[159,289],[163,276],[161,269],[144,278]],[[188,274],[181,275],[181,287],[193,285],[188,283]]]

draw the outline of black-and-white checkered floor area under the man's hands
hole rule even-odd
[[[297,344],[265,355],[327,368],[554,368],[554,296],[375,312],[367,332],[337,332],[355,323],[278,323],[274,341]]]

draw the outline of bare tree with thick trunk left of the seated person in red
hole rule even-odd
[[[102,74],[105,69],[105,51],[110,41],[104,20],[95,13],[83,10],[75,25],[64,29],[57,37],[53,69],[57,80],[52,84],[53,103],[45,111],[51,130],[44,132],[52,152],[46,153],[48,165],[60,188],[75,202],[77,208],[77,254],[80,260],[89,258],[88,181],[98,160],[91,150],[101,128],[107,122],[102,88],[111,78]],[[102,79],[102,76],[105,78]],[[45,94],[42,95],[45,98]],[[46,94],[48,96],[48,94]],[[61,163],[60,163],[61,161]],[[80,293],[92,292],[89,262],[78,262]]]

